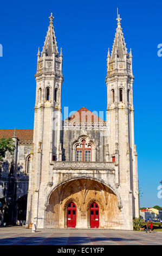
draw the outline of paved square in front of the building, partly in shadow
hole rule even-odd
[[[162,245],[162,232],[2,227],[0,245]]]

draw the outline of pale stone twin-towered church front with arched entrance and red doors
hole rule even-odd
[[[62,121],[62,50],[59,54],[52,14],[49,19],[37,54],[26,228],[67,228],[73,219],[76,228],[133,229],[133,217],[139,216],[134,76],[120,16],[107,55],[106,121],[85,107]]]

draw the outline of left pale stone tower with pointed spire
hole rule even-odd
[[[49,17],[49,27],[43,51],[37,53],[36,101],[34,115],[34,138],[31,149],[31,166],[28,191],[27,226],[36,225],[38,204],[44,184],[51,184],[51,161],[59,160],[61,130],[61,88],[62,49],[59,54],[53,27],[53,15]],[[61,160],[61,159],[60,159]],[[45,188],[46,189],[46,188]],[[32,210],[31,210],[32,209]]]

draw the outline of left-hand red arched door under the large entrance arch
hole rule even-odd
[[[67,208],[67,227],[75,228],[76,226],[76,205],[71,202]]]

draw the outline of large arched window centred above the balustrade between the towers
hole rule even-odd
[[[76,162],[92,161],[92,146],[82,139],[80,144],[76,145]]]

